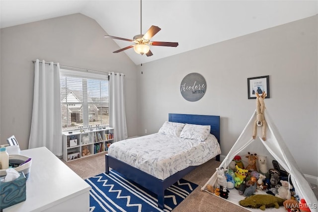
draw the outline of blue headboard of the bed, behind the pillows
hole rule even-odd
[[[194,125],[210,125],[213,134],[220,143],[220,116],[191,115],[169,113],[169,122],[178,122]]]

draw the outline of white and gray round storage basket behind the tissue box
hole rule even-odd
[[[21,164],[24,163],[27,159],[29,159],[29,157],[24,156],[24,155],[20,155],[20,154],[10,154],[9,155],[9,164]],[[23,172],[25,175],[25,179],[27,180],[29,178],[30,172],[31,172],[31,163],[32,160],[29,160],[28,162],[15,167],[14,169],[21,173]],[[0,177],[3,177],[6,175],[6,171],[5,169],[0,169]]]

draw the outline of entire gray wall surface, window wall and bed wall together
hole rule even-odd
[[[125,54],[111,53],[118,46],[103,38],[105,31],[93,19],[81,14],[3,28],[1,144],[15,135],[22,149],[28,146],[34,81],[31,61],[37,58],[124,72],[129,137],[145,135],[145,129],[148,134],[158,132],[168,113],[220,115],[223,155],[255,110],[255,101],[247,99],[247,78],[270,75],[267,110],[299,166],[306,174],[318,176],[317,22],[316,15],[142,67]],[[201,73],[207,81],[207,92],[197,102],[186,101],[179,91],[182,78],[191,72]]]

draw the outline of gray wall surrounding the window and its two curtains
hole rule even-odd
[[[35,59],[96,71],[125,73],[129,136],[137,134],[136,65],[126,54],[113,54],[118,45],[104,38],[97,22],[73,14],[1,29],[1,144],[15,135],[28,147]]]

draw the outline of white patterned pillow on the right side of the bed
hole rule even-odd
[[[180,134],[180,138],[204,141],[211,131],[210,125],[186,124]]]

